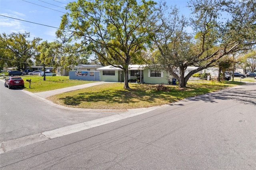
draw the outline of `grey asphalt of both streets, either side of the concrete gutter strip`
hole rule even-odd
[[[104,115],[54,108],[3,88],[0,84],[1,141]],[[7,105],[14,102],[7,93],[18,94],[15,105]],[[0,169],[256,169],[256,84],[19,147],[0,154]]]

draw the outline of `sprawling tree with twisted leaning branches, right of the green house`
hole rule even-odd
[[[253,0],[191,0],[189,4],[190,22],[184,22],[174,8],[168,18],[162,14],[163,27],[155,37],[163,61],[160,63],[178,79],[180,87],[186,87],[190,76],[216,65],[223,56],[250,49],[256,43]],[[222,14],[228,18],[221,18]],[[187,26],[194,36],[186,33]],[[198,69],[184,76],[188,66]]]

